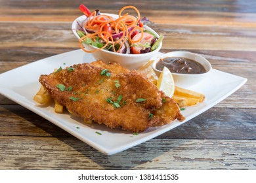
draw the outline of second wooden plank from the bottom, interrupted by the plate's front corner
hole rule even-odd
[[[211,108],[156,139],[256,140],[254,111],[255,108]],[[0,135],[71,137],[69,133],[30,110],[14,105],[0,107]]]

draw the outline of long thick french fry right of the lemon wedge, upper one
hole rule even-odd
[[[184,89],[184,88],[180,88],[178,86],[175,86],[174,95],[179,95],[181,97],[198,99],[200,103],[202,103],[205,99],[205,95],[203,95],[202,93],[198,93],[198,92],[194,92],[192,90],[187,90],[187,89]]]

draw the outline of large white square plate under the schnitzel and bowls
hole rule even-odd
[[[159,53],[161,55],[161,53]],[[210,75],[197,86],[190,88],[205,94],[203,103],[182,110],[186,120],[184,122],[173,122],[161,127],[150,127],[146,131],[133,135],[133,133],[120,129],[110,129],[105,125],[87,125],[83,120],[75,118],[68,112],[56,114],[53,106],[40,107],[33,101],[33,95],[39,90],[38,78],[42,74],[53,73],[53,70],[68,67],[77,63],[95,61],[91,54],[82,50],[75,50],[64,54],[41,59],[28,65],[18,67],[0,75],[0,93],[16,103],[32,110],[43,118],[49,120],[68,133],[71,133],[93,148],[104,154],[116,154],[137,144],[148,141],[188,120],[198,116],[205,110],[213,107],[240,88],[247,81],[246,78],[230,75],[213,69]]]

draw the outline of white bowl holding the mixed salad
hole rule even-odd
[[[107,14],[107,15],[112,16],[114,18],[118,18],[117,14]],[[72,31],[74,35],[77,37],[77,39],[80,39],[80,37],[79,35],[77,35],[76,30],[80,28],[79,24],[81,24],[81,22],[83,22],[83,20],[85,20],[86,18],[87,17],[85,15],[79,16],[74,20],[72,24]],[[79,24],[77,22],[79,22]],[[158,33],[156,33],[156,31],[154,31],[150,27],[144,25],[144,29],[151,31],[157,37],[159,37]],[[97,49],[96,47],[90,46],[88,44],[83,44],[83,46],[85,47],[86,50]],[[120,53],[110,52],[108,50],[98,50],[96,52],[93,52],[92,54],[96,60],[102,59],[102,61],[106,63],[117,62],[127,69],[139,69],[139,67],[147,63],[151,58],[154,58],[155,56],[158,55],[158,52],[161,49],[161,46],[162,46],[162,42],[160,43],[158,48],[156,48],[156,50],[154,50],[153,52],[145,53],[145,54],[120,54]]]

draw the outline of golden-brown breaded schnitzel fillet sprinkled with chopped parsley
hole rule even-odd
[[[82,63],[41,75],[39,82],[75,116],[111,128],[139,132],[184,120],[173,99],[145,76],[117,63]]]

